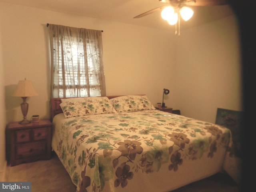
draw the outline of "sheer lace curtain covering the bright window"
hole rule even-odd
[[[49,24],[51,96],[106,96],[102,32]]]

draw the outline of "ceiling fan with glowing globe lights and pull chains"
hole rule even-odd
[[[226,5],[228,0],[158,0],[164,5],[139,14],[134,18],[141,18],[160,11],[164,20],[167,20],[170,25],[176,26],[175,34],[177,34],[177,22],[178,22],[178,35],[180,36],[180,17],[185,21],[189,20],[193,15],[193,10],[187,6],[217,6]]]

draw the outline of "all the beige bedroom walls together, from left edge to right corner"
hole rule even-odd
[[[0,76],[4,74],[0,95],[5,96],[0,98],[5,102],[0,115],[5,119],[6,114],[1,123],[22,120],[22,99],[11,95],[24,78],[32,80],[39,94],[27,100],[28,117],[50,117],[46,23],[104,30],[107,95],[147,94],[155,104],[162,102],[162,90],[168,88],[167,106],[209,122],[215,121],[217,107],[241,109],[234,16],[184,30],[179,38],[174,31],[5,3],[0,3],[0,18]],[[4,129],[0,127],[0,149],[5,148]],[[1,164],[3,154],[0,152]]]

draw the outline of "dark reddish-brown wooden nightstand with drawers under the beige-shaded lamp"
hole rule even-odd
[[[10,122],[10,163],[15,166],[24,162],[51,158],[52,122],[41,119],[36,123]]]

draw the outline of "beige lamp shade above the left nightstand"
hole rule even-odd
[[[30,97],[30,96],[38,96],[32,81],[30,80],[20,80],[18,86],[12,96],[16,97]]]

